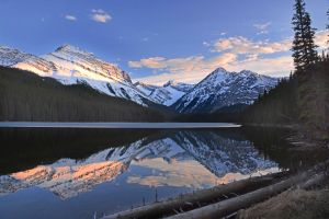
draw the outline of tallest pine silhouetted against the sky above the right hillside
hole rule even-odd
[[[296,71],[300,72],[315,64],[318,55],[314,42],[315,28],[311,27],[311,20],[305,10],[304,0],[296,0],[294,9],[295,14],[292,24],[294,25],[295,37],[292,50]]]

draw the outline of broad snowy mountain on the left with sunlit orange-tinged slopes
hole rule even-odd
[[[41,57],[0,47],[0,64],[5,66],[52,77],[64,84],[84,83],[107,95],[147,105],[147,96],[136,89],[128,73],[70,45],[60,46],[54,53]]]

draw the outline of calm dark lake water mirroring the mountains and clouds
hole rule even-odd
[[[0,128],[0,218],[93,218],[325,159],[287,130]]]

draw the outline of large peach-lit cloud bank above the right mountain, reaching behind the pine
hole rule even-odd
[[[320,49],[327,48],[327,38],[328,31],[316,33],[316,44]],[[180,58],[149,57],[129,61],[128,66],[131,68],[156,70],[156,74],[135,79],[155,84],[162,84],[170,79],[198,82],[218,67],[224,67],[230,71],[248,69],[274,77],[288,76],[294,68],[293,59],[288,53],[292,46],[292,38],[279,42],[256,42],[237,36],[220,38],[209,45],[213,54],[216,54],[209,58],[204,56]]]

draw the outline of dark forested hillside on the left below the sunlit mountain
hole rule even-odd
[[[86,84],[63,85],[50,78],[0,67],[0,120],[158,122],[163,116]]]

